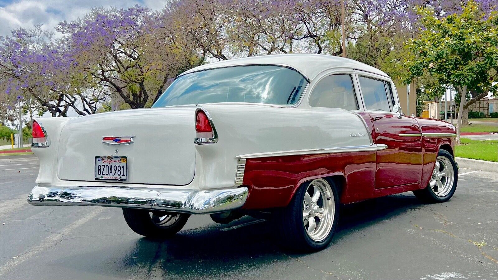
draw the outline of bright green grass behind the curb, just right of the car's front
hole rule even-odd
[[[462,138],[462,143],[455,147],[458,157],[498,161],[498,140],[470,140]]]

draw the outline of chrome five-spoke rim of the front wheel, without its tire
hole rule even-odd
[[[439,197],[446,196],[453,187],[454,178],[453,164],[446,156],[438,156],[429,181],[429,186],[434,194]]]

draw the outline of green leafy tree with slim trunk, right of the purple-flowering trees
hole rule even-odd
[[[464,109],[498,90],[493,85],[498,78],[498,13],[485,14],[474,0],[462,3],[461,13],[441,19],[433,9],[417,11],[423,29],[406,45],[413,57],[404,64],[409,72],[405,82],[428,73],[436,84],[451,85],[460,96],[472,93],[473,98],[459,105],[457,142],[460,143]]]

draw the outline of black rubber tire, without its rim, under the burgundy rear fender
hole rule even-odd
[[[294,197],[292,198],[289,205],[285,208],[276,211],[273,219],[279,228],[278,240],[281,241],[281,245],[290,251],[294,252],[314,252],[324,249],[332,241],[332,237],[337,228],[339,221],[339,192],[337,185],[333,180],[324,178],[325,181],[330,185],[331,192],[334,197],[334,217],[332,220],[332,228],[330,232],[320,241],[313,240],[306,231],[306,226],[303,221],[303,208],[304,196],[308,191],[308,187],[311,182],[315,180],[305,182],[297,189]],[[328,199],[330,200],[330,199]]]

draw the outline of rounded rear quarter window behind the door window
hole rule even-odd
[[[310,95],[310,106],[358,110],[351,75],[331,75],[320,80]]]

